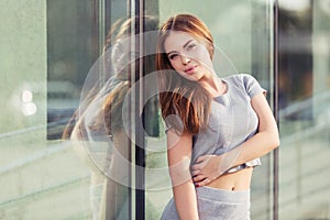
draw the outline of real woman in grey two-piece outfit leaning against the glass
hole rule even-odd
[[[250,219],[250,180],[278,146],[264,90],[250,75],[219,78],[213,41],[196,16],[161,28],[157,69],[174,198],[162,219]]]

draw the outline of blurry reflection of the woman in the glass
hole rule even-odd
[[[65,138],[70,136],[78,142],[75,150],[94,170],[90,186],[94,219],[129,218],[131,142],[124,129],[123,114],[129,116],[129,112],[123,109],[123,101],[132,84],[131,76],[134,75],[132,78],[139,79],[139,73],[133,73],[131,66],[143,57],[144,74],[155,69],[154,53],[134,56],[138,53],[132,50],[131,40],[135,36],[132,35],[131,28],[139,21],[139,18],[133,18],[123,22],[113,43],[111,43],[113,30],[109,33],[100,63],[106,64],[106,72],[112,72],[112,77],[103,86],[99,86],[99,79],[92,84],[94,88],[87,92],[73,118],[76,123],[74,127],[70,123],[64,134]],[[155,18],[145,16],[144,21],[145,32],[156,30]],[[139,30],[135,32],[138,33]],[[152,36],[153,33],[145,34],[145,38],[151,43],[155,41]],[[152,48],[148,48],[148,53],[150,51]],[[95,74],[99,75],[99,73]],[[151,100],[145,109],[153,105],[156,105],[155,100]],[[108,150],[106,155],[99,158],[97,148],[102,144],[106,144]]]

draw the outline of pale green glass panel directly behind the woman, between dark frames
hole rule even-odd
[[[188,6],[188,7],[187,7]],[[273,3],[254,1],[160,1],[160,21],[177,13],[193,13],[209,26],[216,43],[213,64],[217,74],[226,77],[237,73],[249,73],[267,89],[273,100]],[[153,210],[160,218],[172,197],[172,186],[166,170],[166,142],[164,128],[160,138],[148,139],[146,155],[146,211]],[[272,173],[271,156],[262,158],[263,165],[255,168],[252,180],[252,219],[271,218]],[[156,172],[155,172],[156,169]]]

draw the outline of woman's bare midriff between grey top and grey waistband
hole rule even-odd
[[[248,190],[250,189],[253,168],[244,168],[237,173],[219,176],[208,187],[226,189],[226,190]]]

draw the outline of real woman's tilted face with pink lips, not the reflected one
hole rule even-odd
[[[189,80],[198,81],[213,72],[206,45],[189,33],[172,31],[164,48],[173,68]]]

